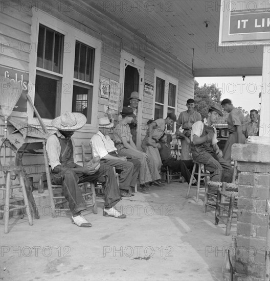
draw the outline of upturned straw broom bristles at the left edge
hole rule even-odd
[[[16,105],[23,88],[21,83],[12,81],[4,76],[1,76],[0,83],[0,113],[8,117]]]

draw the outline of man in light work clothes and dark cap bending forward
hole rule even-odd
[[[159,139],[163,136],[166,130],[166,125],[171,125],[176,121],[176,115],[169,113],[166,119],[160,118],[148,124],[146,136],[142,142],[142,149],[147,153],[148,157],[154,159],[154,165],[151,168],[153,185],[163,186],[158,180],[161,178],[161,157],[158,149]]]

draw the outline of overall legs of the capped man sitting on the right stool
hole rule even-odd
[[[205,165],[207,171],[210,172],[212,181],[232,182],[233,168],[222,157],[218,157],[215,152],[209,153],[199,148],[192,149],[192,156],[196,162]]]

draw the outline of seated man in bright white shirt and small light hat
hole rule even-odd
[[[109,132],[114,127],[114,123],[110,123],[107,117],[100,118],[98,122],[99,131],[91,139],[93,156],[98,156],[101,163],[106,163],[106,165],[116,168],[116,171],[120,173],[119,187],[121,197],[131,197],[134,195],[131,188],[136,186],[140,171],[140,161],[118,155],[117,148],[109,137]]]

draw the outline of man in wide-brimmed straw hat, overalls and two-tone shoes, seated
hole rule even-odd
[[[125,218],[114,206],[121,200],[114,170],[109,165],[100,165],[99,159],[93,158],[85,167],[75,163],[75,146],[71,139],[74,132],[82,128],[86,117],[81,113],[64,112],[52,121],[58,129],[51,135],[46,144],[49,165],[52,168],[52,183],[61,184],[72,213],[72,223],[80,227],[91,227],[82,215],[86,209],[85,201],[78,183],[96,181],[102,183],[105,193],[103,216]]]

